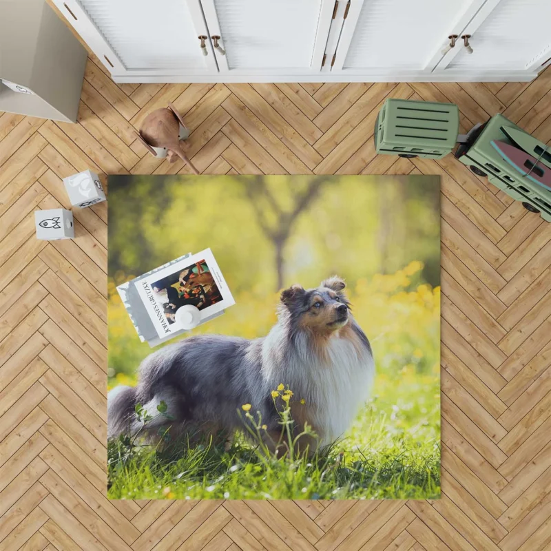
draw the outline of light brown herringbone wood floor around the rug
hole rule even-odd
[[[116,85],[92,56],[76,125],[0,116],[0,548],[551,550],[551,225],[451,156],[377,156],[386,97],[453,101],[462,129],[503,112],[551,141],[533,83]],[[106,204],[75,240],[34,238],[61,178],[187,172],[134,138],[172,101],[205,174],[439,174],[442,499],[108,501]]]

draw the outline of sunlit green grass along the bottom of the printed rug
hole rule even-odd
[[[373,398],[324,455],[278,458],[260,447],[243,435],[228,451],[209,442],[174,442],[161,450],[113,441],[109,497],[438,498],[439,379],[408,367],[392,379],[380,375]]]

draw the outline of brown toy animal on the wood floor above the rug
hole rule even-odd
[[[154,156],[167,156],[169,163],[175,163],[180,157],[194,174],[199,174],[198,169],[185,154],[188,146],[183,140],[187,138],[189,132],[183,118],[171,103],[168,107],[161,107],[149,113],[142,123],[140,132],[136,134]]]

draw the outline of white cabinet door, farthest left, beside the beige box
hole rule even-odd
[[[199,0],[54,0],[114,75],[217,74]]]

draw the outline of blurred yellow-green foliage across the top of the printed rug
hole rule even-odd
[[[111,176],[109,275],[116,284],[207,247],[232,291],[277,291],[274,242],[263,231],[293,213],[284,278],[313,286],[393,273],[420,260],[439,284],[437,176]],[[283,224],[280,224],[283,225]]]

